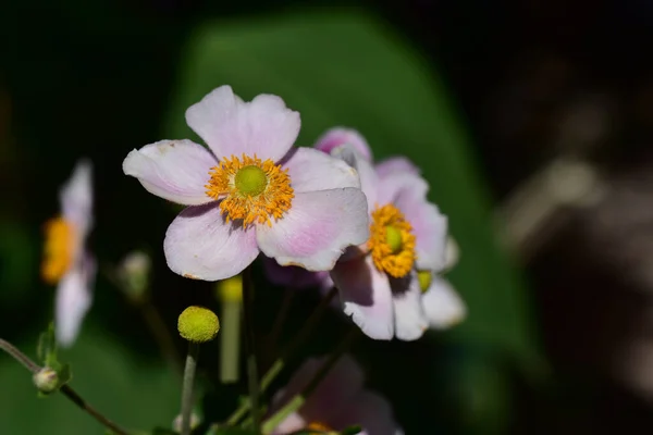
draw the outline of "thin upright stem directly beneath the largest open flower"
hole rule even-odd
[[[243,273],[243,318],[245,321],[245,349],[247,351],[247,382],[254,430],[260,433],[259,378],[256,358],[256,334],[254,325],[254,285],[249,268]]]

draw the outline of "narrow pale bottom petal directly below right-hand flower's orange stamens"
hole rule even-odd
[[[424,334],[429,322],[422,308],[422,295],[417,276],[414,274],[406,279],[405,288],[401,290],[393,288],[395,335],[401,340],[412,341]]]

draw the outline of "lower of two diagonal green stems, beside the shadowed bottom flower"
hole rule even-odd
[[[320,385],[324,376],[329,374],[333,365],[342,357],[342,355],[349,348],[352,343],[360,337],[360,331],[357,327],[353,327],[347,335],[343,338],[336,349],[329,356],[326,361],[322,363],[320,369],[316,372],[310,382],[301,389],[301,391],[293,397],[285,406],[270,417],[262,426],[263,434],[270,434],[279,424],[284,421],[289,414],[297,411],[306,402],[306,398]]]

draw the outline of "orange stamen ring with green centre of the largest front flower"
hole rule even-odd
[[[241,220],[244,228],[251,224],[272,226],[272,220],[281,219],[295,197],[287,169],[256,154],[222,159],[209,175],[207,195],[220,200],[226,222]]]

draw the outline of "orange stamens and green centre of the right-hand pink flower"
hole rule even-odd
[[[374,266],[389,275],[406,276],[415,263],[415,235],[410,223],[394,206],[377,207],[372,212],[368,247]]]

